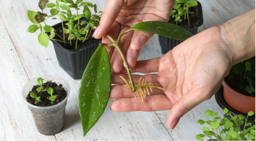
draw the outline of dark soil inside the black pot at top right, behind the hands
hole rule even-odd
[[[189,24],[190,26],[198,26],[199,24],[199,11],[196,7],[190,7],[188,9],[189,12],[194,12],[194,13],[190,13],[188,14],[188,17],[189,17]],[[188,26],[188,19],[187,19],[187,16],[186,16],[186,19],[184,19],[184,15],[180,17],[180,20],[177,21],[177,25],[178,26]],[[173,24],[176,24],[176,21],[174,21],[175,18],[172,18],[170,16],[170,19],[168,22],[170,23],[173,23]]]

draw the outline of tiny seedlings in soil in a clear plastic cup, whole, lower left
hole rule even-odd
[[[59,77],[41,76],[27,82],[22,97],[39,133],[54,135],[62,130],[69,93],[68,83]]]

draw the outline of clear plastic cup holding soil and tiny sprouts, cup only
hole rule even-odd
[[[62,84],[64,89],[67,91],[67,97],[62,100],[60,103],[48,107],[39,107],[33,104],[30,104],[26,97],[29,91],[32,90],[34,85],[37,85],[37,78],[42,78],[43,83],[47,81],[52,81],[59,84]],[[22,98],[27,103],[29,110],[32,113],[34,118],[34,122],[36,125],[36,129],[39,133],[44,135],[54,135],[59,133],[64,125],[64,116],[65,116],[65,107],[67,105],[68,96],[70,93],[70,87],[68,83],[62,78],[55,76],[39,76],[37,78],[33,78],[29,80],[23,88]]]

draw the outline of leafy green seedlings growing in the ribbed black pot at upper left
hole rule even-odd
[[[84,42],[90,37],[94,27],[99,25],[102,14],[101,11],[97,11],[96,4],[82,2],[82,0],[76,0],[76,2],[73,2],[73,0],[56,0],[55,3],[49,3],[49,0],[39,0],[38,6],[41,11],[28,10],[28,19],[34,24],[28,27],[27,32],[35,33],[40,29],[41,33],[38,35],[38,42],[44,47],[48,46],[49,39],[63,42],[64,46],[67,43],[73,46],[72,40],[75,40],[74,46],[77,49],[77,42]],[[95,14],[91,13],[89,7],[93,8]],[[46,8],[50,10],[50,13],[44,13]],[[72,13],[71,9],[74,9],[75,12]],[[79,9],[83,9],[83,12],[79,13]],[[89,22],[80,21],[82,17],[88,19]],[[46,24],[46,21],[50,18],[61,21],[62,36],[53,27]],[[44,23],[44,26],[42,23]],[[50,36],[45,32],[50,32]],[[65,38],[66,34],[68,39]],[[58,39],[54,38],[55,35],[58,36]]]

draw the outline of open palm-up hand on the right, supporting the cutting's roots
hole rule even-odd
[[[119,85],[114,85],[111,89],[110,98],[116,99],[111,103],[111,110],[130,112],[171,109],[167,126],[173,129],[180,117],[204,100],[210,99],[228,74],[232,59],[220,34],[220,28],[214,26],[180,43],[161,58],[138,61],[131,71],[158,71],[158,74],[146,74],[144,77],[147,82],[165,89],[153,88],[144,103],[135,99],[119,78],[121,75],[127,79],[127,75],[114,74],[112,83]],[[134,75],[134,82],[138,82],[139,77]]]

